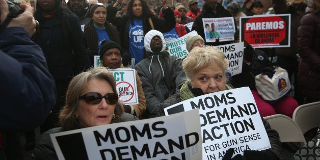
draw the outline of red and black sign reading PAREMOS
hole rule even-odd
[[[255,48],[290,47],[290,14],[240,17],[240,41]]]

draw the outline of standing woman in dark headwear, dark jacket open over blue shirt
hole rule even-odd
[[[99,4],[90,6],[89,17],[91,17],[91,20],[85,24],[85,40],[92,64],[94,63],[94,56],[99,55],[101,41],[112,40],[120,43],[117,28],[106,21],[106,8]]]

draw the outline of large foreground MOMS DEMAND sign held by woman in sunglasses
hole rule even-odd
[[[202,159],[199,110],[51,134],[59,159]],[[77,147],[71,147],[77,143]],[[80,157],[81,156],[81,157]]]

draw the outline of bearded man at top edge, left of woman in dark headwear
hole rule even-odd
[[[86,0],[69,0],[67,8],[79,18],[80,25],[86,24],[90,18],[86,17],[89,3]]]

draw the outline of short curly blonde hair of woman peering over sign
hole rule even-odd
[[[229,64],[225,55],[218,47],[196,47],[183,59],[182,68],[185,76],[191,80],[195,72],[214,63],[222,67],[225,75]],[[224,77],[226,78],[226,76]]]

